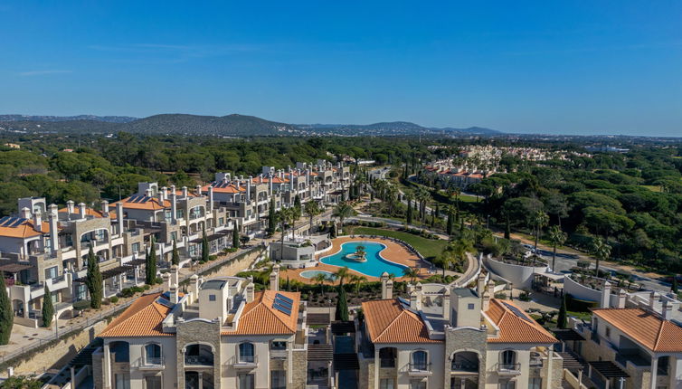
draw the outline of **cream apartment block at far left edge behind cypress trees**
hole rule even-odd
[[[133,261],[143,245],[143,230],[124,222],[122,213],[72,201],[59,209],[46,205],[42,197],[18,200],[18,216],[0,219],[0,270],[14,309],[14,321],[29,327],[41,322],[40,310],[50,290],[57,317],[71,313],[72,302],[86,298],[82,280],[90,247],[104,280],[105,293],[112,295],[124,285],[136,284],[139,263]]]

